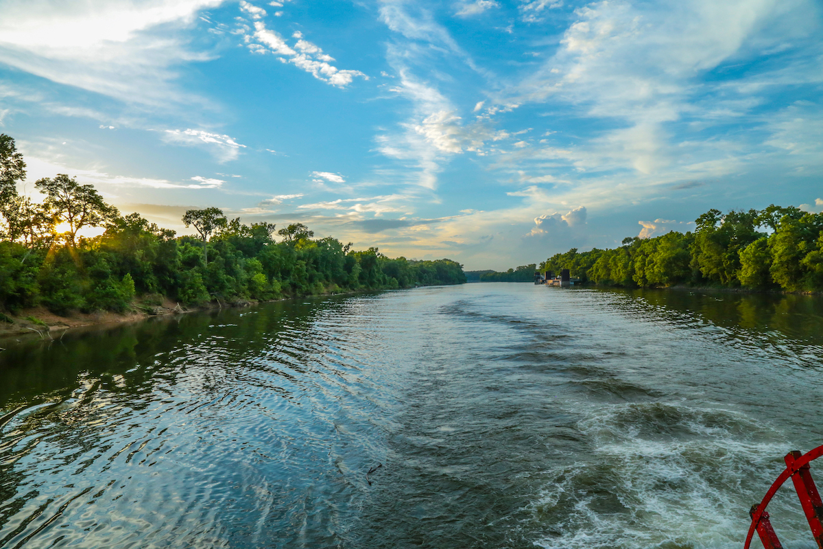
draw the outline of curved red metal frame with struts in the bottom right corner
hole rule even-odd
[[[765,549],[783,549],[777,534],[774,533],[774,528],[769,522],[766,505],[769,505],[778,488],[783,486],[783,482],[786,482],[788,477],[792,477],[794,490],[797,491],[797,497],[800,498],[800,505],[802,505],[803,513],[806,514],[806,519],[809,521],[811,534],[815,537],[817,547],[823,549],[823,502],[821,502],[821,496],[817,492],[817,487],[811,478],[811,470],[809,469],[809,462],[820,458],[821,455],[823,455],[823,446],[818,446],[805,455],[801,455],[797,450],[786,454],[786,457],[783,458],[786,462],[786,470],[781,472],[774,484],[771,485],[763,500],[760,501],[760,505],[752,505],[749,510],[751,526],[743,549],[749,549],[755,531],[760,536],[760,541],[763,542]]]

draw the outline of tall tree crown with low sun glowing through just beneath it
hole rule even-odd
[[[77,231],[83,227],[102,226],[113,222],[118,216],[117,208],[103,200],[91,184],[81,185],[77,179],[66,174],[58,174],[54,179],[45,177],[35,183],[35,187],[46,195],[43,202],[57,219],[68,224],[67,240],[72,248],[77,247]]]

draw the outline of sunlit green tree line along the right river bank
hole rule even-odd
[[[717,286],[770,291],[823,291],[823,213],[772,204],[695,220],[695,230],[630,237],[616,249],[570,249],[540,263],[570,269],[603,286]]]

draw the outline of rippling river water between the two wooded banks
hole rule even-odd
[[[823,444],[803,295],[481,283],[0,346],[0,547],[742,547]]]

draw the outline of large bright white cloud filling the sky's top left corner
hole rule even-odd
[[[177,63],[205,60],[175,30],[223,0],[5,2],[0,63],[128,103],[203,103],[172,85]],[[156,29],[163,26],[163,32]]]

